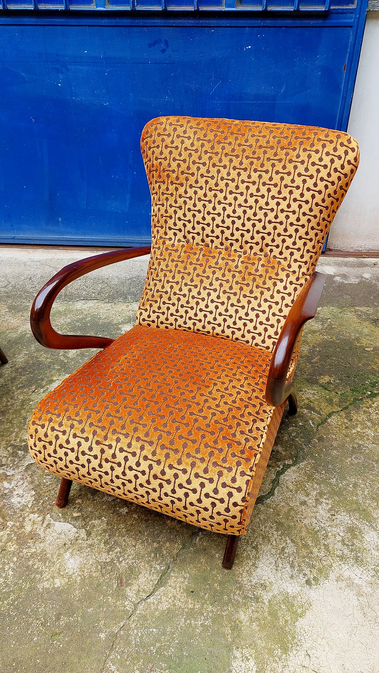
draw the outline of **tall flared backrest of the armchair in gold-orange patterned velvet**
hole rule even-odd
[[[137,322],[272,351],[359,162],[347,133],[160,117],[143,129],[152,251]]]

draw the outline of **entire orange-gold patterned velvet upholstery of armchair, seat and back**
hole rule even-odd
[[[271,353],[355,174],[357,143],[327,129],[164,117],[141,148],[152,251],[137,326],[40,402],[30,452],[57,476],[244,534],[284,409],[265,402]]]

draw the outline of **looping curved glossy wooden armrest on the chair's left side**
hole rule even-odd
[[[59,292],[77,278],[101,269],[108,264],[121,262],[125,259],[140,257],[149,254],[151,248],[123,248],[123,250],[112,250],[94,257],[87,257],[78,262],[73,262],[61,271],[55,274],[53,278],[40,289],[34,299],[32,310],[30,312],[30,327],[36,340],[46,348],[61,348],[66,350],[76,348],[105,348],[114,339],[108,339],[105,336],[83,336],[73,334],[59,334],[51,326],[50,311]]]

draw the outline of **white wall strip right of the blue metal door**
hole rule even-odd
[[[379,11],[367,15],[348,131],[361,158],[328,248],[379,250]]]

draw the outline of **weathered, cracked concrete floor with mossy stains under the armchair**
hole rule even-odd
[[[85,250],[0,248],[1,672],[379,673],[379,265],[323,258],[321,308],[232,571],[225,538],[59,480],[26,446],[38,400],[93,351],[48,351],[36,291]],[[76,281],[61,330],[133,323],[146,259]]]

